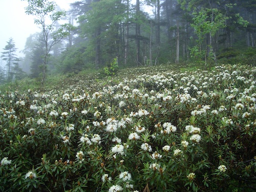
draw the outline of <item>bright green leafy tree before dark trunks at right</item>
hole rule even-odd
[[[230,3],[232,1],[178,0],[178,2],[193,17],[193,22],[190,25],[198,36],[197,45],[191,49],[191,55],[204,58],[205,64],[208,58],[216,60],[212,39],[217,32],[226,30],[226,43],[229,47],[231,39],[228,28],[248,25],[248,22],[239,13],[236,13],[236,9],[234,9],[236,4]],[[233,12],[231,15],[230,10]]]

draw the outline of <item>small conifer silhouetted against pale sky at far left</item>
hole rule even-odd
[[[15,54],[17,48],[15,48],[15,42],[12,38],[7,41],[7,45],[4,48],[4,52],[2,52],[3,60],[7,61],[7,81],[10,82],[14,77],[15,72],[18,71],[18,61],[19,58]],[[13,70],[15,67],[16,70]],[[17,74],[16,74],[17,75]]]

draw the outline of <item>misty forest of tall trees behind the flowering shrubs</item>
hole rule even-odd
[[[84,0],[67,13],[48,0],[27,1],[26,13],[42,29],[27,38],[19,61],[31,77],[104,68],[114,58],[122,67],[256,63],[256,0]],[[40,13],[52,19],[49,28]]]

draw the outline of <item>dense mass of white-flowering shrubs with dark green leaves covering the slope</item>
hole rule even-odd
[[[1,93],[0,190],[255,191],[256,69],[160,70]]]

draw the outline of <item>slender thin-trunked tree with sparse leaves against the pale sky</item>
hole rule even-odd
[[[39,25],[44,35],[45,50],[44,50],[44,63],[42,65],[42,79],[41,84],[44,85],[46,80],[47,64],[49,61],[50,51],[52,47],[58,42],[68,36],[69,24],[60,25],[59,28],[55,27],[58,20],[66,15],[65,11],[55,11],[56,3],[48,0],[22,0],[29,3],[26,7],[26,14],[34,15],[34,23]]]

